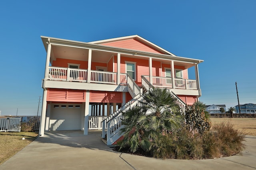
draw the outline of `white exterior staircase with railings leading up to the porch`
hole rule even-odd
[[[102,121],[102,138],[104,139],[106,137],[106,144],[108,146],[113,145],[113,143],[115,143],[123,135],[122,133],[119,133],[120,129],[124,127],[124,125],[122,125],[122,112],[132,109],[135,106],[142,106],[143,92],[148,92],[151,88],[154,88],[154,86],[147,80],[145,76],[141,76],[141,78],[142,87],[140,88],[127,74],[127,87],[128,92],[132,96],[132,100],[127,102],[124,106],[120,107],[116,112]],[[176,102],[180,106],[180,112],[185,114],[186,104],[171,90],[169,90],[169,92],[174,98],[176,98]]]

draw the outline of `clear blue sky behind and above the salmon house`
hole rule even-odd
[[[40,35],[89,42],[137,34],[177,56],[204,60],[205,104],[236,106],[235,82],[240,104],[256,104],[255,9],[256,0],[2,1],[2,115],[17,108],[18,115],[37,114],[46,60]]]

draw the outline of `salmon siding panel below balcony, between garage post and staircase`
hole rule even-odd
[[[122,92],[90,91],[90,102],[122,103]]]

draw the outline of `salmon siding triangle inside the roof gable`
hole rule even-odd
[[[115,41],[110,43],[102,43],[101,45],[106,45],[110,47],[119,47],[124,49],[132,49],[132,50],[138,50],[138,51],[146,51],[150,53],[164,54],[158,51],[157,49],[154,49],[136,39],[126,39],[126,40]]]

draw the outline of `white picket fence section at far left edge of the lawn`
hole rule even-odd
[[[0,131],[1,132],[20,132],[21,117],[5,117],[0,118]]]

